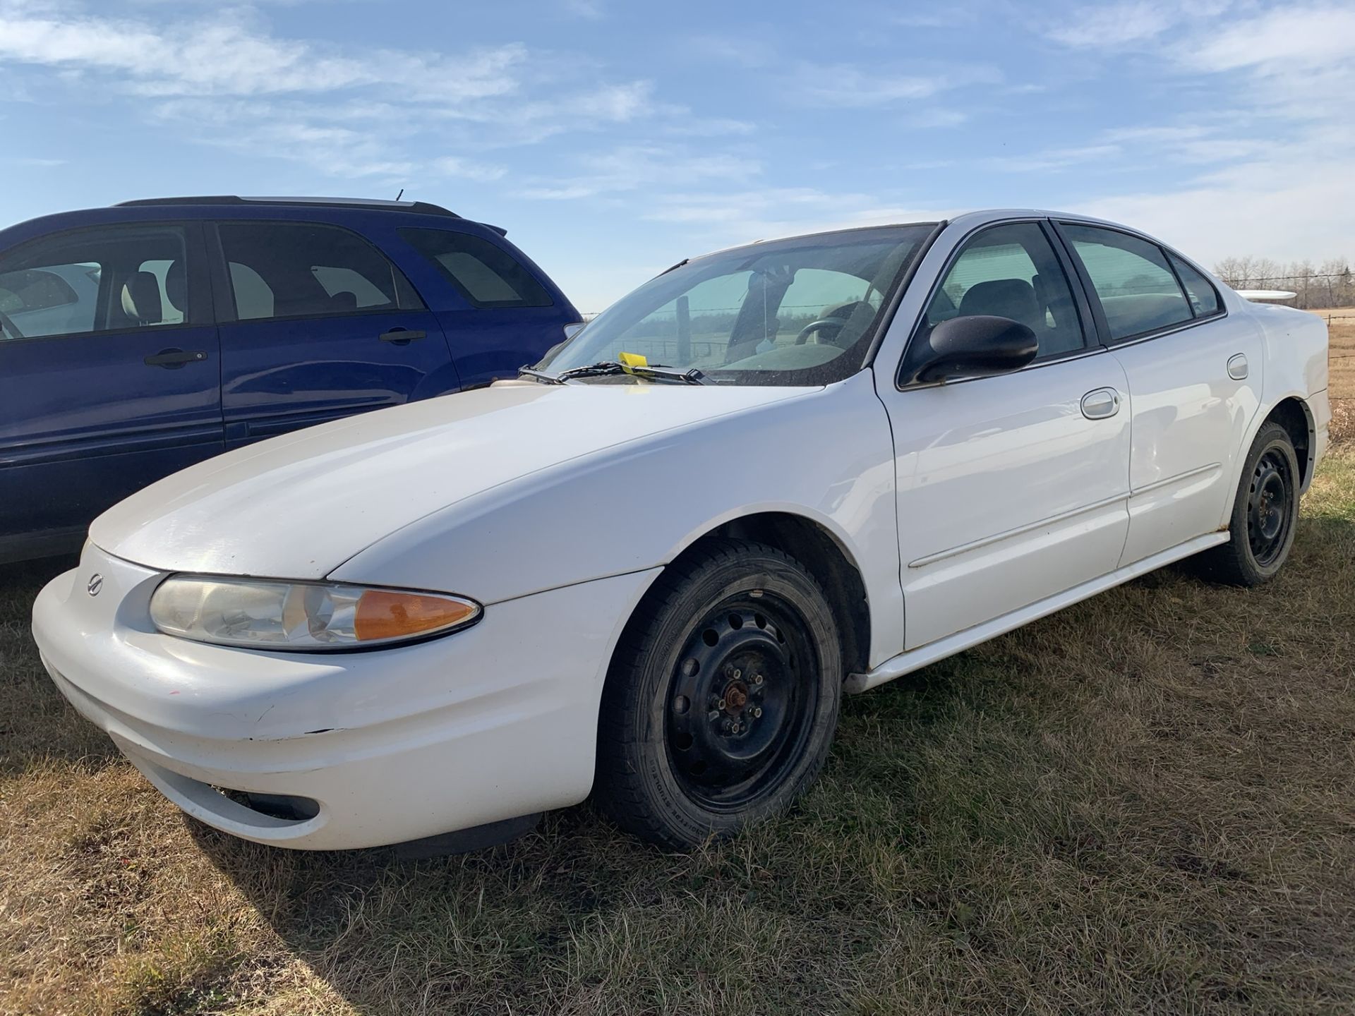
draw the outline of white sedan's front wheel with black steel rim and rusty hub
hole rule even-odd
[[[595,799],[669,849],[786,810],[837,725],[841,642],[789,554],[711,542],[669,565],[621,638],[599,713]]]

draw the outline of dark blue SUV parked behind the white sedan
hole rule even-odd
[[[579,312],[424,202],[167,198],[0,230],[0,562],[229,448],[514,377]]]

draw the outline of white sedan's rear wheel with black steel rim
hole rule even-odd
[[[1274,578],[1294,546],[1298,486],[1298,457],[1289,432],[1276,423],[1264,424],[1243,465],[1228,543],[1199,555],[1205,576],[1244,587]]]

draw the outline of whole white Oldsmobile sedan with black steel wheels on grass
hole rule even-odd
[[[34,635],[237,836],[470,847],[592,792],[683,848],[790,805],[844,691],[1180,558],[1274,576],[1329,416],[1318,317],[1123,226],[759,242],[519,378],[150,486]]]

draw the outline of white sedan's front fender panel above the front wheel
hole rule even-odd
[[[386,536],[331,577],[491,606],[667,565],[722,523],[760,512],[804,516],[837,539],[859,562],[873,642],[897,650],[894,452],[869,371],[482,492]]]

